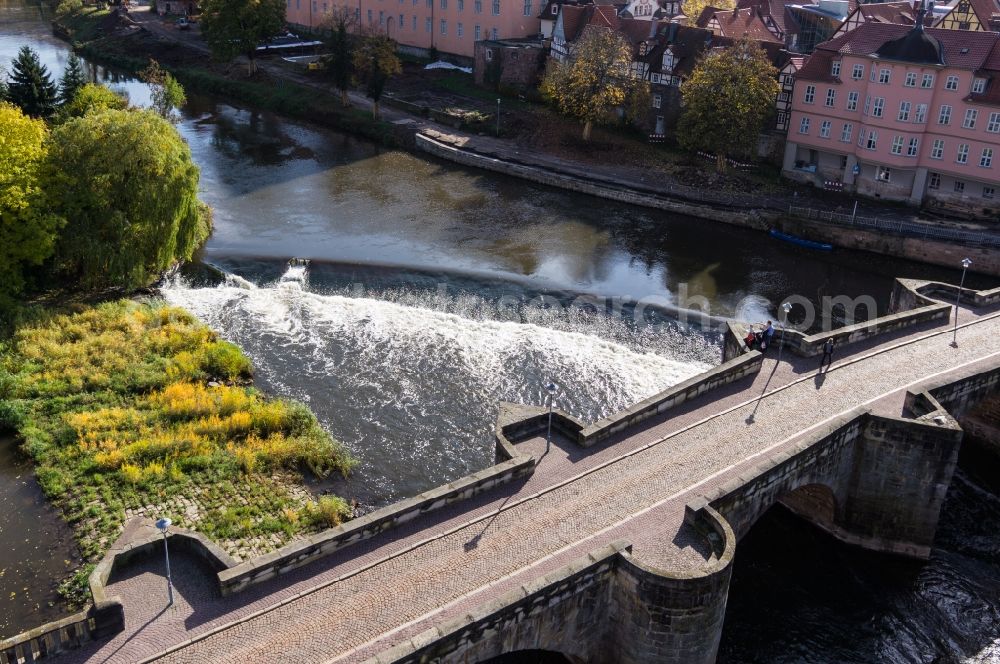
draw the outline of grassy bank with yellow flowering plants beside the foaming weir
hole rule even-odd
[[[134,515],[246,558],[349,518],[343,499],[313,501],[300,473],[354,464],[250,372],[237,347],[157,300],[40,314],[0,345],[0,429],[19,435],[89,563]]]

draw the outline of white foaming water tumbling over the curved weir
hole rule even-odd
[[[305,283],[294,266],[269,286],[175,281],[163,294],[239,344],[264,387],[310,403],[360,458],[369,486],[357,491],[369,502],[489,465],[499,402],[541,404],[550,380],[561,387],[557,407],[593,421],[709,368],[583,331],[490,319],[488,306],[470,318]]]

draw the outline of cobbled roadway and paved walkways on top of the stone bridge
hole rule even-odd
[[[751,477],[762,461],[787,458],[838,418],[860,411],[900,417],[908,391],[1000,367],[1000,310],[963,306],[958,323],[957,347],[950,325],[924,323],[842,345],[822,376],[815,357],[786,351],[778,363],[768,354],[754,375],[589,449],[562,435],[548,449],[544,432],[529,437],[516,445],[537,462],[526,480],[228,597],[208,569],[177,555],[176,602],[167,608],[162,561],[126,566],[107,588],[124,604],[124,631],[50,661],[392,661],[380,653],[403,652],[418,635],[426,641],[427,630],[537,586],[614,542],[672,578],[707,574],[719,554],[686,522],[686,506]],[[714,650],[706,657],[714,659]]]

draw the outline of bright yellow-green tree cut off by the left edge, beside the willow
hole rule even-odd
[[[52,253],[59,227],[39,180],[46,134],[42,120],[0,102],[0,310],[23,289],[24,268]]]

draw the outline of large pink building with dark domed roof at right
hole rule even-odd
[[[1000,34],[865,23],[795,74],[787,177],[980,214],[997,159]]]

